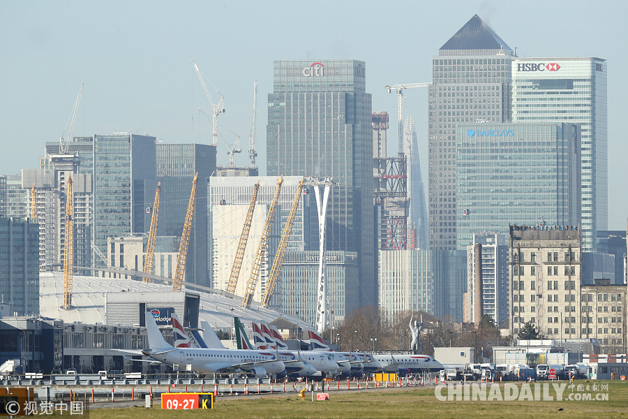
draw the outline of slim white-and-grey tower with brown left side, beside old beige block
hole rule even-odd
[[[489,316],[501,324],[508,316],[508,240],[503,233],[473,235],[467,246],[465,323]]]

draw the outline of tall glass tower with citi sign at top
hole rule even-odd
[[[361,306],[377,304],[371,94],[365,82],[364,61],[274,61],[267,126],[269,176],[338,182],[327,208],[327,249],[357,252]],[[317,234],[311,237],[306,249],[317,249]]]

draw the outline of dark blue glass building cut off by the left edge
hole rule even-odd
[[[0,218],[0,299],[14,316],[39,314],[39,226]]]

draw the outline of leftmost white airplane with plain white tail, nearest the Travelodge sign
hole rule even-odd
[[[268,374],[278,374],[285,369],[285,365],[278,359],[278,356],[269,351],[174,348],[163,339],[151,312],[147,311],[144,316],[149,348],[142,350],[142,353],[152,360],[173,367],[174,365],[190,365],[193,371],[204,374],[251,373],[259,378]]]

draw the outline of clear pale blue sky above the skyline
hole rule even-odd
[[[627,12],[620,0],[1,1],[0,174],[38,167],[45,142],[68,126],[82,82],[73,136],[130,132],[210,144],[211,124],[197,109],[211,108],[191,60],[214,101],[216,89],[224,96],[218,131],[230,144],[241,137],[236,166],[248,165],[257,80],[255,149],[266,174],[276,59],[366,61],[366,91],[374,112],[390,114],[387,152],[396,156],[396,95],[384,87],[431,82],[433,56],[477,14],[519,57],[608,60],[608,228],[625,230]],[[406,96],[427,185],[427,89]],[[219,164],[226,153],[219,142]]]

